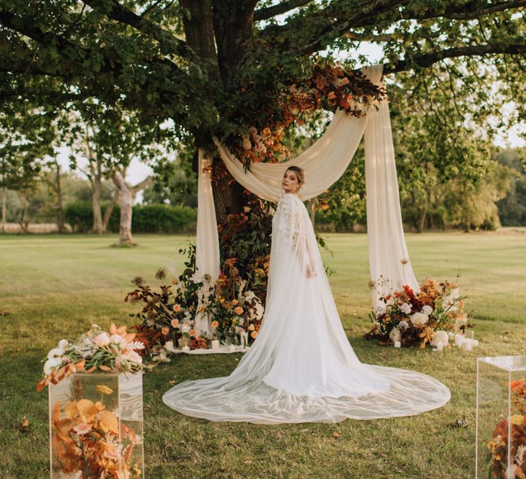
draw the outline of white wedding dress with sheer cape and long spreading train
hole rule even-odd
[[[258,424],[408,416],[449,389],[418,372],[362,364],[347,340],[305,205],[284,194],[273,218],[259,335],[230,376],[185,381],[164,396],[180,413]]]

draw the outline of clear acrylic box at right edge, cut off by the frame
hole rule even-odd
[[[525,420],[526,356],[478,358],[477,478],[525,477]]]

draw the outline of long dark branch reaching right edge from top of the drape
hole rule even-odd
[[[411,70],[414,67],[426,68],[446,58],[457,58],[465,56],[484,55],[524,55],[526,54],[526,43],[518,44],[490,44],[473,45],[468,47],[457,47],[416,55],[407,60],[399,60],[395,63],[384,64],[384,75]]]

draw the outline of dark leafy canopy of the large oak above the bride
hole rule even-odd
[[[97,98],[138,112],[143,127],[171,120],[174,142],[210,148],[218,135],[234,145],[249,127],[261,131],[276,121],[291,86],[312,77],[319,53],[341,57],[367,41],[383,47],[387,75],[411,72],[415,88],[434,78],[453,101],[459,88],[463,97],[468,92],[477,106],[468,120],[483,124],[495,99],[524,100],[525,5],[1,0],[0,93],[49,108]],[[342,64],[351,70],[359,61]],[[432,96],[429,109],[440,120]],[[461,110],[452,114],[466,116]],[[220,222],[242,206],[241,191],[216,187]]]

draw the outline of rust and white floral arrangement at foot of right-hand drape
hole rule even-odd
[[[380,278],[371,287],[382,290],[386,283]],[[399,341],[400,346],[447,346],[449,333],[466,323],[463,299],[458,282],[436,283],[431,278],[421,283],[419,292],[404,285],[389,294],[379,294],[378,305],[370,315],[373,328],[365,338],[377,339],[382,345]]]

